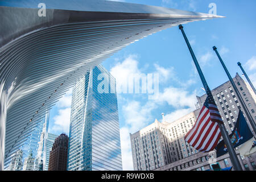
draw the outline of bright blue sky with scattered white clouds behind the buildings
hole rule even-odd
[[[256,84],[255,0],[126,0],[144,5],[208,13],[216,3],[217,15],[226,16],[184,24],[184,31],[210,89],[228,81],[212,47],[216,46],[232,77],[241,70],[240,61]],[[106,59],[102,65],[112,75],[158,73],[159,98],[148,100],[147,94],[118,94],[119,123],[123,169],[132,170],[129,133],[135,133],[155,121],[161,113],[172,122],[195,109],[196,95],[201,96],[200,78],[178,27],[147,36]],[[123,81],[121,79],[121,81]],[[49,132],[68,133],[71,94],[69,92],[51,110]]]

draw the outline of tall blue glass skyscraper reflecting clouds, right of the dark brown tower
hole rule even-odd
[[[108,84],[101,88],[103,73]],[[73,88],[68,170],[122,170],[115,78],[101,65],[77,80]]]

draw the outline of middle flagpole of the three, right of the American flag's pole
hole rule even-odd
[[[229,81],[231,82],[233,88],[234,88],[234,91],[236,92],[237,94],[237,97],[238,97],[238,100],[240,101],[241,105],[242,105],[242,108],[243,110],[245,111],[245,114],[251,124],[251,127],[253,128],[253,135],[255,137],[255,134],[256,134],[256,126],[255,126],[255,122],[253,121],[253,117],[251,117],[251,114],[249,112],[249,109],[247,108],[245,102],[243,101],[242,99],[242,96],[241,94],[239,93],[238,89],[237,89],[237,86],[234,84],[234,81],[232,79],[232,77],[230,76],[229,74],[229,71],[228,69],[226,68],[226,65],[224,64],[223,60],[221,59],[221,56],[219,55],[218,51],[217,51],[217,48],[215,46],[213,46],[213,50],[216,52],[217,56],[218,56],[218,59],[220,60],[221,62],[221,65],[222,67],[224,68],[225,72],[226,72],[226,75],[228,75],[229,77]]]

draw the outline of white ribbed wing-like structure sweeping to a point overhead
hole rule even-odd
[[[5,0],[0,17],[3,170],[35,121],[90,68],[147,35],[221,16],[103,0]]]

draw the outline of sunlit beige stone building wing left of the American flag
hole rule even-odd
[[[130,134],[134,170],[153,170],[196,154],[198,151],[185,142],[184,135],[196,122],[199,111],[172,123],[155,119],[151,125]]]

